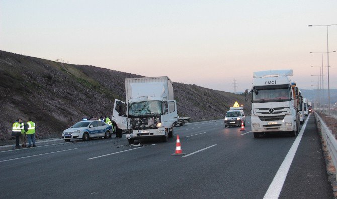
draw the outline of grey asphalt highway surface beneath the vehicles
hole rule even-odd
[[[306,119],[296,137],[256,139],[247,118],[245,131],[189,123],[140,147],[111,138],[1,148],[0,197],[332,198],[315,120]],[[172,155],[177,134],[185,156]]]

